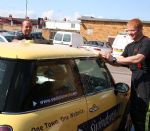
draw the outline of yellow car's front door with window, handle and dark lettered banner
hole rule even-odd
[[[114,93],[114,82],[105,64],[96,58],[76,59],[88,106],[84,131],[114,131],[119,127],[126,99]]]

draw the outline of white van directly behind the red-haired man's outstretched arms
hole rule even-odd
[[[118,57],[122,54],[124,51],[124,48],[127,46],[127,44],[131,43],[133,40],[130,38],[130,36],[127,34],[127,32],[119,33],[112,44],[112,55],[113,57]]]

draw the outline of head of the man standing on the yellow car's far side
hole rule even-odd
[[[32,32],[32,23],[30,20],[24,20],[22,22],[21,31],[25,36],[29,36]]]

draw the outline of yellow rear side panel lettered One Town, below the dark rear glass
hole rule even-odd
[[[77,111],[79,114],[73,116]],[[77,131],[77,125],[86,120],[84,98],[31,113],[0,114],[0,125],[11,125],[13,131]]]

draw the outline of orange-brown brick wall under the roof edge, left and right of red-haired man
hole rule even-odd
[[[107,41],[109,37],[114,37],[126,28],[126,22],[109,22],[109,21],[81,21],[80,33],[86,40]],[[93,30],[88,34],[87,30]],[[150,23],[144,24],[144,34],[150,37]]]

